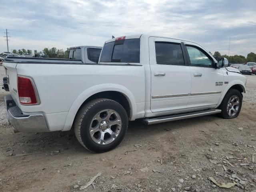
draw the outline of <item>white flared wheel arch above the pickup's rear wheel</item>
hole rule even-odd
[[[72,103],[68,111],[66,122],[62,131],[70,130],[77,112],[80,108],[90,100],[96,98],[112,99],[120,103],[127,112],[128,118],[134,120],[136,117],[137,107],[136,100],[126,87],[118,84],[100,84],[88,88],[82,92]]]

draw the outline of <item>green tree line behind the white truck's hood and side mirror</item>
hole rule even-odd
[[[211,53],[211,52],[210,52]],[[212,53],[211,53],[212,54]],[[247,57],[242,55],[233,55],[233,56],[227,56],[220,54],[220,52],[216,51],[214,54],[212,54],[216,60],[220,57],[225,57],[228,59],[229,63],[246,63],[246,62],[256,62],[256,54],[253,52],[250,52],[247,54]]]

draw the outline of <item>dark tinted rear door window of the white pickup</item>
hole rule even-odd
[[[185,65],[180,44],[156,42],[156,63],[166,65]]]

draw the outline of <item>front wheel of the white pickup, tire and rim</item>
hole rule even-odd
[[[221,109],[220,116],[224,119],[236,118],[242,108],[242,94],[236,90],[231,89],[224,96],[222,103],[219,106]]]

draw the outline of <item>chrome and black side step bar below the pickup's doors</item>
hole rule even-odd
[[[160,117],[151,118],[151,119],[150,118],[143,119],[142,121],[144,123],[146,123],[147,125],[151,125],[151,124],[156,124],[156,123],[163,123],[163,122],[168,122],[168,121],[175,121],[175,120],[181,120],[181,119],[188,119],[188,118],[192,118],[192,117],[216,114],[216,113],[220,113],[220,112],[221,112],[220,109],[210,109],[210,110],[196,111],[196,112],[169,115],[169,116],[160,116]]]

